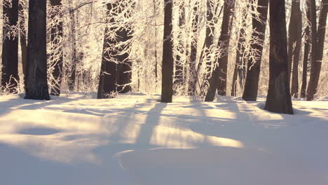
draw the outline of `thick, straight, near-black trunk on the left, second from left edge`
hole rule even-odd
[[[29,0],[25,99],[50,100],[47,82],[46,1]]]

